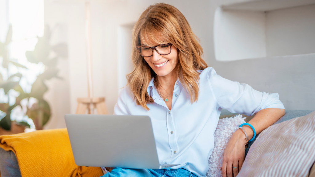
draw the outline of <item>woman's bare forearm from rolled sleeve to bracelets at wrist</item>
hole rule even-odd
[[[264,129],[268,128],[273,123],[275,123],[284,114],[285,114],[284,109],[266,108],[266,109],[262,109],[258,111],[256,115],[253,117],[253,119],[250,120],[248,123],[251,124],[255,128],[256,134],[259,134]],[[250,128],[248,125],[244,125],[243,128],[245,129],[249,137],[249,140],[253,138],[254,132],[252,128]],[[244,134],[241,130],[239,130],[238,132],[240,133],[240,135]]]

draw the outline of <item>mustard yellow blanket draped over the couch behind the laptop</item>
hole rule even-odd
[[[2,135],[0,147],[14,152],[22,177],[103,175],[99,167],[81,167],[75,164],[66,128]]]

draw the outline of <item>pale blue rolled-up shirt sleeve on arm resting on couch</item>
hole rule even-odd
[[[213,68],[209,70],[209,81],[218,107],[232,113],[252,116],[265,108],[284,109],[278,93],[260,92],[248,84],[230,81],[217,75]]]

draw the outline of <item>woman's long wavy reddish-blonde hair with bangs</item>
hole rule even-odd
[[[127,80],[137,105],[149,110],[146,104],[154,100],[147,93],[147,87],[152,78],[158,92],[160,84],[157,75],[136,48],[140,45],[140,39],[150,39],[157,44],[172,43],[177,48],[178,60],[173,72],[186,93],[189,93],[191,103],[197,101],[198,70],[204,70],[208,66],[201,58],[203,49],[198,42],[199,39],[192,32],[184,15],[172,5],[156,3],[141,14],[133,28],[131,59],[135,69],[127,75]]]

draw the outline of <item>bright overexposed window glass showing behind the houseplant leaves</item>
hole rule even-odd
[[[26,66],[28,69],[17,67],[9,63],[8,68],[2,66],[3,57],[0,57],[0,72],[3,80],[12,74],[21,73],[20,86],[25,93],[31,91],[31,85],[37,75],[44,71],[42,63],[33,64],[27,61],[25,52],[34,50],[37,36],[43,36],[44,32],[44,2],[43,0],[0,0],[0,41],[5,42],[9,25],[12,25],[12,42],[8,45],[9,59],[13,62]],[[11,89],[8,95],[0,89],[0,102],[14,105],[15,97],[19,92]],[[34,100],[35,101],[35,100]],[[29,104],[32,100],[29,101]],[[26,112],[27,100],[22,100],[20,106],[16,106],[11,112],[11,120],[24,121],[34,128],[31,119],[22,112]],[[30,105],[28,105],[30,106]]]

